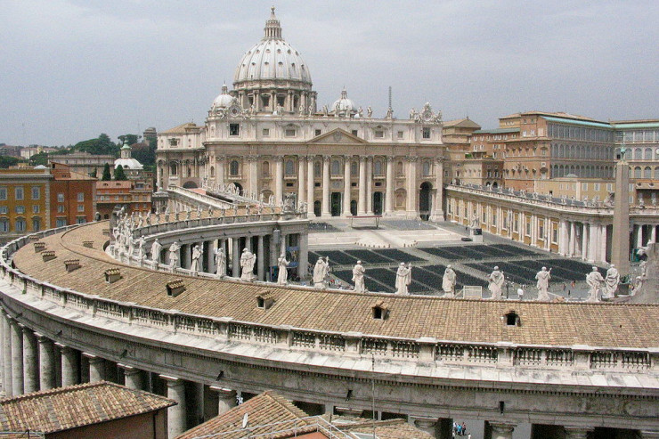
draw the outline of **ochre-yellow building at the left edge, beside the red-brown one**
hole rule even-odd
[[[48,168],[0,169],[0,240],[50,229]]]

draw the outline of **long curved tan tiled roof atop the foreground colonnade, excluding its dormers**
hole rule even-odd
[[[231,317],[267,325],[298,329],[358,331],[384,337],[436,337],[472,343],[509,342],[518,345],[659,347],[659,305],[549,304],[438,297],[359,294],[278,288],[224,280],[154,272],[120,264],[102,251],[108,240],[102,230],[108,222],[85,224],[42,239],[56,258],[43,262],[33,246],[20,248],[13,257],[16,268],[38,280],[113,300],[211,317]],[[94,248],[82,243],[93,240]],[[81,267],[65,270],[63,261],[76,258]],[[122,279],[104,281],[103,272],[120,267]],[[183,279],[186,290],[167,297],[166,284]],[[256,306],[256,296],[269,292],[274,305]],[[388,311],[384,321],[372,318],[371,308],[381,303]],[[502,316],[514,310],[521,326],[507,326]]]

